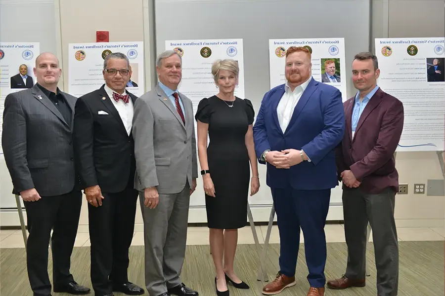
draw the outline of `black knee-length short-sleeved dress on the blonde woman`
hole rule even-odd
[[[250,161],[245,135],[254,116],[247,99],[235,97],[228,102],[213,96],[198,104],[195,119],[209,124],[207,161],[216,196],[206,194],[209,228],[236,229],[247,224]]]

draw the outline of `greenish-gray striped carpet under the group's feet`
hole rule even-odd
[[[399,242],[400,278],[399,296],[441,296],[444,295],[444,241]],[[340,277],[345,272],[347,248],[345,243],[327,244],[327,262],[325,274],[327,279]],[[278,271],[279,244],[270,244],[266,262],[269,281]],[[368,271],[366,287],[347,290],[326,290],[327,296],[376,296],[376,269],[372,243],[367,250]],[[49,259],[49,277],[52,278],[51,259]],[[235,259],[235,270],[239,277],[251,286],[250,290],[238,290],[229,287],[231,296],[259,296],[264,282],[257,281],[259,259],[255,245],[239,245]],[[90,258],[89,247],[76,247],[72,256],[72,268],[75,280],[91,287],[89,280]],[[304,256],[304,245],[300,253],[296,270],[297,285],[283,291],[280,296],[306,296],[309,284],[306,280],[307,266]],[[214,267],[209,246],[187,246],[182,281],[199,291],[200,296],[215,296]],[[130,249],[129,279],[137,285],[144,286],[143,246],[132,246]],[[0,249],[0,295],[31,296],[32,291],[26,272],[25,249]],[[55,294],[53,296],[67,296]],[[90,295],[94,295],[91,292]],[[116,296],[124,294],[115,293]],[[148,295],[146,292],[145,295]]]

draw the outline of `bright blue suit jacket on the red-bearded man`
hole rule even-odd
[[[260,159],[266,149],[303,149],[311,162],[289,169],[277,169],[267,163],[267,185],[297,190],[330,189],[338,185],[334,148],[345,133],[345,111],[341,92],[311,78],[295,106],[283,133],[276,112],[284,94],[284,84],[268,91],[261,103],[253,127],[255,152]],[[263,163],[260,160],[260,163]]]

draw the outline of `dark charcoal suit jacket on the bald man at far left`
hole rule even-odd
[[[61,93],[71,108],[69,124],[37,85],[6,96],[1,142],[14,194],[36,188],[41,196],[54,196],[74,188],[71,135],[77,98]]]

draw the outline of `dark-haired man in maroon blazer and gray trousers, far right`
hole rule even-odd
[[[394,152],[403,129],[403,105],[377,86],[377,57],[355,56],[353,82],[358,92],[346,101],[346,131],[337,148],[339,180],[343,182],[343,215],[348,245],[345,275],[328,288],[365,286],[366,226],[372,228],[377,268],[377,294],[396,296],[399,249],[394,204],[399,189]]]

